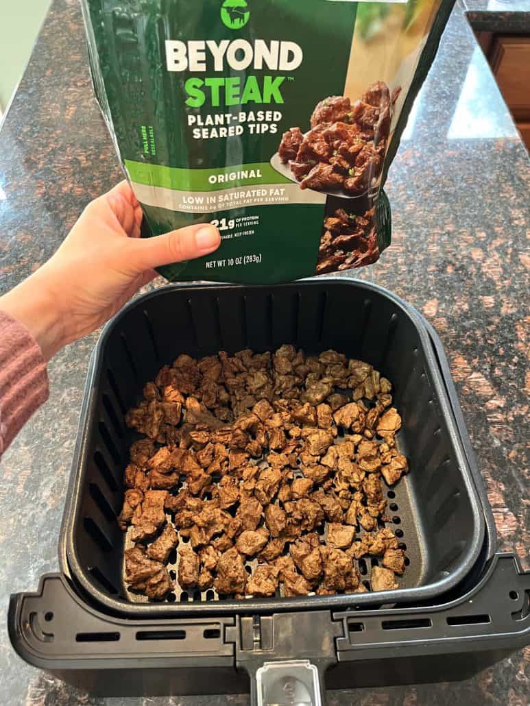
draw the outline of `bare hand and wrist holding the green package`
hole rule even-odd
[[[0,297],[49,360],[105,323],[156,276],[158,265],[207,255],[220,244],[212,225],[140,238],[142,212],[126,181],[88,204],[52,258]]]

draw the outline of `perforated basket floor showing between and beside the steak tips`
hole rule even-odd
[[[401,443],[401,434],[396,436],[396,445],[400,453],[406,455],[406,451]],[[337,438],[337,443],[340,443],[341,439]],[[418,469],[413,469],[413,472],[418,472]],[[296,476],[302,476],[301,472],[295,472]],[[182,481],[179,484],[176,491],[184,488],[186,486],[185,477],[182,477]],[[387,510],[386,515],[390,517],[390,522],[380,522],[380,527],[390,527],[394,530],[396,536],[399,538],[399,546],[401,549],[405,550],[406,554],[406,569],[403,575],[396,575],[396,582],[399,584],[399,588],[411,588],[420,586],[423,583],[423,577],[425,575],[425,562],[423,561],[423,554],[421,549],[421,543],[419,541],[418,527],[415,520],[416,513],[413,509],[413,501],[411,498],[411,493],[409,490],[408,476],[401,478],[400,481],[393,487],[389,488],[382,479],[384,496],[387,498]],[[171,515],[167,515],[167,522],[171,522]],[[176,530],[176,528],[175,528]],[[327,522],[319,527],[319,534],[322,534],[323,539],[326,538],[327,533]],[[363,537],[365,530],[362,528],[356,532],[355,537]],[[131,527],[126,532],[124,549],[131,549],[135,546],[130,539]],[[189,539],[187,537],[181,537],[177,530],[179,537],[179,546],[182,544],[187,544]],[[178,547],[177,547],[178,549]],[[286,548],[284,554],[288,553]],[[372,566],[377,566],[381,557],[375,556],[364,556],[359,560],[355,560],[355,566],[360,574],[360,578],[364,583],[365,587],[370,590],[370,578],[372,575]],[[248,558],[245,561],[245,567],[250,575],[254,570],[254,567],[258,565],[257,558]],[[170,561],[167,563],[167,570],[170,572],[170,577],[173,582],[175,582],[175,589],[167,595],[167,602],[205,602],[205,601],[223,601],[228,598],[233,598],[230,596],[220,595],[216,590],[211,587],[206,591],[200,591],[199,589],[183,590],[179,583],[177,582],[179,567],[178,551],[172,551],[170,555]],[[148,597],[130,590],[129,586],[126,584],[125,579],[125,563],[122,563],[122,587],[124,592],[124,597],[133,603],[149,603],[151,602]],[[276,592],[276,597],[283,597],[283,585]],[[252,600],[252,597],[245,597],[247,600]],[[270,597],[273,601],[274,597]]]

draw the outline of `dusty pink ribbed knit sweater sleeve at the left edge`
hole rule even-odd
[[[48,395],[40,346],[22,323],[0,311],[0,457]]]

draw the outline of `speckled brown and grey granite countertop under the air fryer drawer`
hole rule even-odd
[[[499,548],[517,552],[525,568],[530,162],[465,13],[473,13],[473,22],[489,18],[493,29],[519,18],[523,31],[528,10],[528,0],[466,0],[455,7],[389,172],[392,246],[379,263],[355,273],[407,299],[440,334],[488,489]],[[0,292],[6,292],[57,249],[91,198],[122,178],[92,97],[78,0],[52,2],[0,140]],[[246,695],[95,699],[28,666],[11,648],[9,594],[35,590],[42,573],[58,568],[61,513],[95,340],[92,335],[69,346],[49,364],[49,402],[2,460],[3,702],[246,704]],[[329,703],[522,706],[529,657],[528,650],[513,654],[462,683],[331,692]]]

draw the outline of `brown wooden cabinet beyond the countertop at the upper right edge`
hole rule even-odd
[[[530,150],[530,36],[477,32],[477,40]]]

